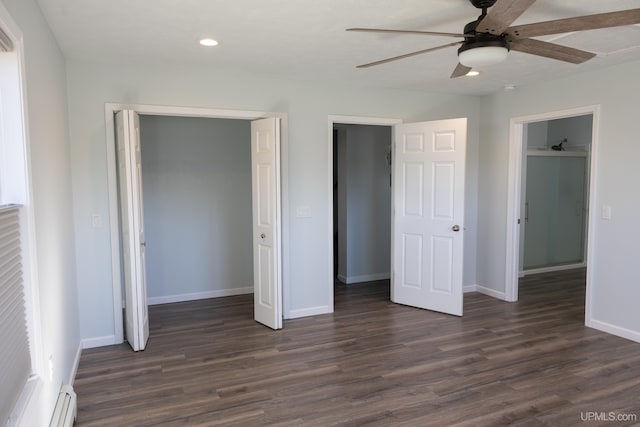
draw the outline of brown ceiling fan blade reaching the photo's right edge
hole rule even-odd
[[[619,12],[599,13],[597,15],[516,25],[508,28],[507,32],[513,38],[518,39],[633,24],[640,24],[640,9],[621,10]]]

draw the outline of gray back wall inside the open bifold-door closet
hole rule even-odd
[[[140,135],[148,297],[253,289],[250,122],[141,116]]]

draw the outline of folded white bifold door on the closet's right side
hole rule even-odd
[[[282,328],[280,119],[251,122],[253,292],[257,322]]]

